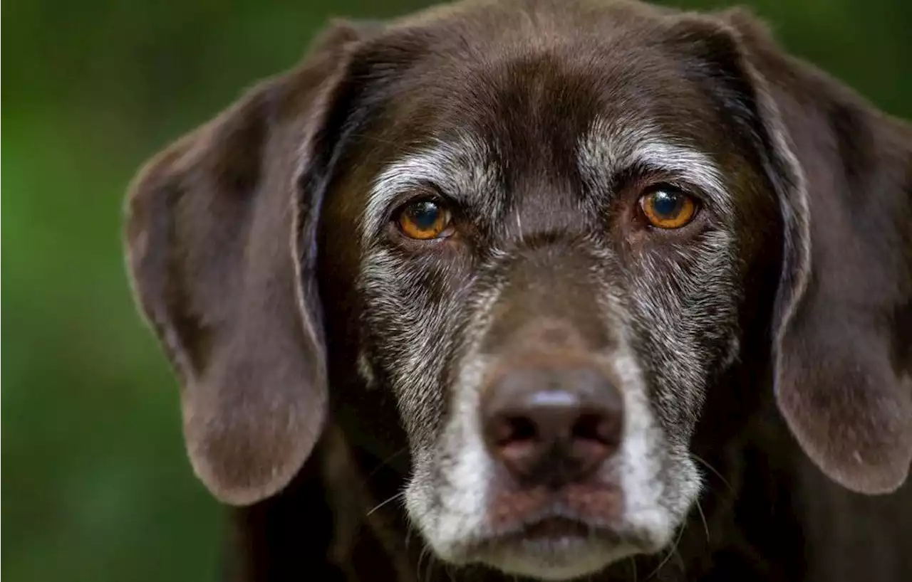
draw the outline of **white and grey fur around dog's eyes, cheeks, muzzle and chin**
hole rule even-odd
[[[696,244],[672,244],[670,252],[666,245],[661,253],[644,249],[623,267],[604,237],[587,237],[598,300],[606,326],[618,340],[605,357],[624,378],[628,411],[622,451],[604,470],[622,485],[627,527],[658,550],[673,538],[700,492],[688,442],[707,371],[714,360],[724,365],[737,352],[737,265],[734,240],[725,230],[731,226],[731,204],[720,168],[709,156],[662,136],[649,124],[596,120],[591,133],[581,136],[577,156],[590,185],[610,184],[613,175],[632,164],[671,172],[706,193],[718,222]],[[510,198],[499,191],[497,161],[481,139],[461,136],[389,165],[370,192],[361,230],[360,287],[368,302],[367,327],[386,326],[383,341],[368,339],[368,344],[373,365],[382,368],[396,393],[412,453],[406,507],[435,552],[456,563],[467,559],[466,548],[488,527],[492,461],[482,444],[478,398],[489,363],[480,345],[506,284],[497,278],[498,265],[513,257],[507,249],[490,250],[470,285],[435,299],[420,281],[423,273],[377,241],[389,205],[422,181],[470,200],[495,222]],[[595,207],[599,195],[612,192],[591,194]],[[513,224],[512,234],[522,245],[521,212]],[[728,342],[729,353],[706,351],[707,340],[716,336]],[[455,373],[441,372],[446,370]],[[528,554],[484,559],[514,574],[557,579],[637,551],[641,548],[620,547],[605,553],[593,545],[564,552],[565,563],[555,562],[554,556],[540,557],[539,563]]]

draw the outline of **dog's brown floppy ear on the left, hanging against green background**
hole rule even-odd
[[[283,488],[326,422],[312,178],[350,55],[379,28],[335,23],[299,66],[152,158],[130,188],[134,296],[181,380],[193,469],[224,503]]]

